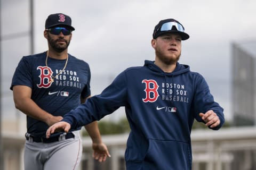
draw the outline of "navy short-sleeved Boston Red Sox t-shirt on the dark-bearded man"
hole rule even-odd
[[[81,104],[80,97],[86,98],[91,95],[90,67],[86,62],[70,54],[63,72],[61,70],[66,60],[48,57],[48,68],[45,60],[46,52],[22,57],[14,72],[10,89],[12,90],[15,85],[30,87],[31,99],[40,108],[54,116],[63,116]],[[50,81],[51,75],[57,75],[53,82]],[[47,128],[49,126],[46,123],[27,116],[28,133],[45,135]]]

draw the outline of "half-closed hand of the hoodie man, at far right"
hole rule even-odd
[[[210,126],[210,128],[215,128],[220,124],[219,116],[214,113],[212,110],[207,111],[205,114],[199,113],[199,116],[206,123],[206,126]]]

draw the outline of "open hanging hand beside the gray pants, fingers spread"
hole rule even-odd
[[[108,157],[111,157],[108,148],[104,143],[92,143],[93,154],[92,157],[99,162],[105,162]]]

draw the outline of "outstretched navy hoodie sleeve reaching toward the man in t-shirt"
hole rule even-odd
[[[76,129],[100,120],[125,104],[126,78],[125,73],[122,72],[100,95],[87,99],[84,104],[66,114],[62,121],[68,122],[71,129]]]

